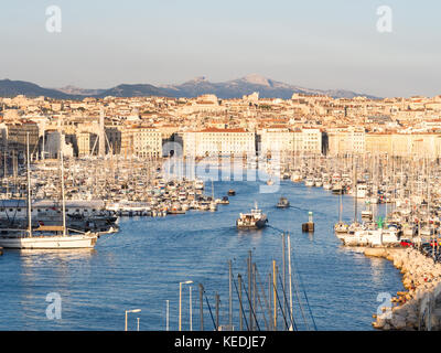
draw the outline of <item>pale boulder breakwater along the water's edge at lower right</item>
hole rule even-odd
[[[379,330],[441,330],[441,264],[413,248],[366,248],[366,256],[385,257],[402,274],[407,291],[397,292],[391,308],[374,314]]]

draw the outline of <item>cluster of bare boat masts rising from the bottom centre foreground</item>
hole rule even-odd
[[[237,272],[234,275],[233,261],[228,261],[228,313],[225,320],[220,318],[220,296],[216,291],[214,295],[214,306],[211,304],[208,296],[202,284],[198,285],[200,291],[200,331],[204,331],[204,308],[208,314],[215,331],[298,331],[316,329],[309,308],[305,291],[301,292],[301,284],[293,281],[291,264],[291,238],[290,234],[282,233],[282,268],[280,271],[277,261],[271,260],[271,271],[266,277],[261,277],[257,264],[252,259],[251,250],[248,252],[246,259],[246,276]],[[298,274],[299,276],[299,274]],[[266,285],[263,279],[267,278]],[[191,281],[189,281],[191,282]],[[294,285],[294,286],[293,286]],[[293,288],[294,287],[294,288]],[[303,293],[303,302],[301,296]],[[294,297],[297,302],[294,302]],[[304,300],[306,298],[306,300]],[[236,303],[236,314],[234,311]],[[308,306],[306,308],[304,308]],[[190,308],[192,304],[190,306]],[[294,307],[299,310],[295,313]],[[181,308],[181,307],[180,307]],[[192,309],[191,322],[192,322]],[[168,311],[169,314],[169,311]],[[182,330],[182,319],[180,311],[180,325]],[[169,328],[169,318],[166,318]],[[193,330],[192,323],[190,330]]]

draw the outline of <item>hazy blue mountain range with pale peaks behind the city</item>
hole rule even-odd
[[[220,99],[241,98],[244,95],[259,93],[261,98],[282,98],[290,99],[293,93],[309,95],[327,95],[334,98],[353,98],[365,96],[378,99],[372,95],[359,94],[345,89],[312,89],[304,88],[282,82],[273,81],[261,75],[251,74],[241,78],[212,83],[204,76],[196,77],[179,85],[150,84],[121,84],[108,89],[84,89],[75,86],[62,88],[44,88],[36,84],[23,81],[0,79],[0,96],[14,97],[25,95],[29,97],[45,96],[56,99],[83,99],[85,97],[104,98],[114,97],[140,97],[140,96],[161,96],[161,97],[197,97],[204,94],[214,94]]]

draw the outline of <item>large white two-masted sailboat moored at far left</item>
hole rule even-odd
[[[28,228],[26,229],[1,229],[0,247],[12,249],[75,249],[93,248],[98,239],[98,234],[67,229],[66,206],[64,199],[64,165],[63,152],[61,152],[62,164],[62,196],[63,196],[63,225],[44,226],[32,228],[31,210],[31,167],[29,154],[29,133],[26,138],[28,152]]]

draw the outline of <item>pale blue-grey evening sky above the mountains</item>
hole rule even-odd
[[[50,6],[61,32],[46,30]],[[381,6],[391,32],[377,30]],[[2,1],[0,79],[110,88],[256,73],[308,88],[435,96],[440,15],[439,0]]]

